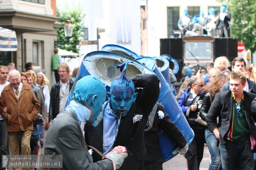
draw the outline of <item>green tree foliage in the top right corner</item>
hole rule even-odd
[[[227,10],[234,18],[230,33],[242,41],[246,49],[256,51],[256,1],[255,0],[228,0],[225,2]]]

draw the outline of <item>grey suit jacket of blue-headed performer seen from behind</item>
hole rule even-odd
[[[62,169],[113,169],[112,162],[108,159],[92,163],[77,115],[69,106],[62,114],[57,115],[48,129],[44,154],[52,155],[53,152],[63,155]]]

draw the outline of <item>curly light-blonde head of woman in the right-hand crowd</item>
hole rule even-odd
[[[215,59],[214,67],[218,68],[220,70],[220,73],[230,75],[230,70],[228,70],[228,67],[230,67],[230,62],[228,61],[228,58],[226,56],[221,56]]]

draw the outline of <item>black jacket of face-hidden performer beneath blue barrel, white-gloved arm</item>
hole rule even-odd
[[[164,106],[160,103],[156,103],[156,105],[157,108],[155,116],[152,117],[152,127],[150,128],[150,130],[145,131],[144,134],[145,146],[147,151],[144,157],[144,163],[152,162],[162,158],[160,141],[157,134],[158,127],[162,129],[164,133],[166,133],[166,135],[172,138],[172,140],[179,146],[179,148],[184,148],[187,144],[185,137],[176,126],[176,123],[172,122],[170,116],[165,112]],[[157,112],[159,110],[164,112],[163,119],[160,119],[158,116]],[[152,112],[150,113],[149,120],[151,119],[151,114],[153,114]],[[163,160],[161,160],[161,163],[163,163]]]

